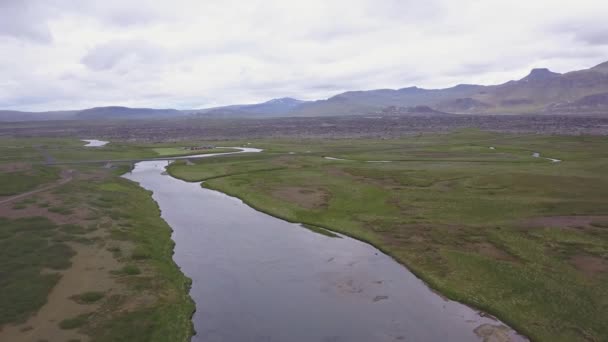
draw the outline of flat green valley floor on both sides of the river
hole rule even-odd
[[[130,165],[45,160],[154,158],[192,144],[264,152],[177,161],[171,175],[367,241],[532,340],[608,338],[608,140],[461,130],[99,149],[2,139],[0,340],[188,340],[189,280],[150,194],[120,178]]]

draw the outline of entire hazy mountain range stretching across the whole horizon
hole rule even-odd
[[[593,114],[608,115],[608,62],[564,74],[533,69],[499,85],[460,84],[445,89],[408,87],[348,91],[325,100],[289,97],[200,110],[97,107],[76,111],[0,110],[0,121],[142,119],[179,116],[281,117],[336,115]]]

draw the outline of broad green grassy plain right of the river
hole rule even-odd
[[[464,131],[252,146],[266,152],[169,171],[368,241],[533,340],[608,338],[606,138]]]

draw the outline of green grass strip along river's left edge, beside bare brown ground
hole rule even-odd
[[[99,209],[98,215],[112,218],[111,239],[134,245],[130,255],[120,256],[124,266],[109,272],[124,279],[134,293],[147,293],[156,300],[133,311],[119,310],[87,320],[79,329],[90,334],[92,341],[187,341],[193,332],[190,280],[173,262],[171,229],[160,219],[151,193],[118,177],[127,170],[119,168],[114,177],[103,181],[70,184],[64,191],[93,194],[86,200]],[[133,327],[138,330],[133,331]]]

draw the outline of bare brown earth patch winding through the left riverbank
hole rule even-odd
[[[95,170],[88,174],[79,173],[76,177],[80,181],[91,181],[103,179],[107,174],[109,173],[104,170]],[[62,176],[63,180],[71,179],[68,172]],[[59,182],[58,186],[62,184],[64,183]],[[20,203],[21,207],[16,208],[16,203]],[[49,211],[53,208],[67,210]],[[86,332],[62,329],[59,323],[93,312],[87,324],[95,326],[117,312],[146,308],[156,303],[159,296],[150,291],[155,284],[153,277],[146,277],[146,274],[153,273],[148,267],[138,265],[142,273],[137,276],[120,277],[114,273],[131,260],[134,246],[130,241],[112,240],[110,232],[116,227],[118,219],[106,215],[107,213],[102,215],[94,207],[89,207],[82,194],[55,187],[43,188],[0,205],[0,217],[44,216],[59,225],[76,224],[83,228],[77,232],[66,230],[59,233],[67,237],[65,243],[76,251],[70,260],[70,268],[58,272],[61,274],[59,282],[48,294],[46,304],[35,314],[23,323],[0,327],[0,341],[88,341],[90,338]],[[43,272],[57,271],[44,269]],[[138,284],[142,288],[134,291]],[[99,292],[104,296],[92,303],[74,300],[76,296],[87,292]],[[163,294],[165,297],[171,295],[173,294]]]

